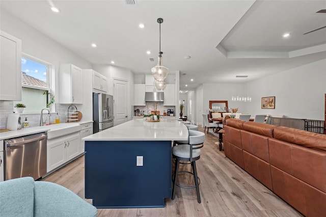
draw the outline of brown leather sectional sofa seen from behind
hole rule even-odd
[[[225,156],[306,216],[326,216],[326,135],[227,119]]]

